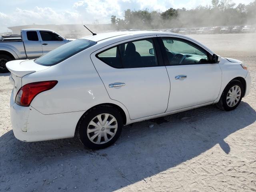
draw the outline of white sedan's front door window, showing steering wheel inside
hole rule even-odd
[[[207,52],[185,40],[162,38],[170,65],[208,63]]]

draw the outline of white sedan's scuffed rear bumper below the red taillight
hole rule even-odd
[[[14,136],[33,142],[74,137],[76,124],[83,112],[44,115],[31,106],[17,105],[10,99],[10,116]]]

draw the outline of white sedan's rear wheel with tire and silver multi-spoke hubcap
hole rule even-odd
[[[106,148],[119,138],[123,120],[112,106],[98,106],[86,112],[78,122],[78,138],[87,148]]]

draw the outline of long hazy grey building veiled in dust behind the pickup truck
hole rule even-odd
[[[99,32],[106,32],[112,30],[111,24],[86,24],[92,32],[99,33]],[[12,30],[12,34],[20,34],[20,30],[22,29],[48,29],[53,30],[60,34],[65,38],[79,38],[82,36],[90,35],[91,33],[82,25],[78,24],[65,24],[65,25],[55,25],[55,24],[48,24],[48,25],[22,25],[22,26],[13,26],[8,27],[8,29]]]

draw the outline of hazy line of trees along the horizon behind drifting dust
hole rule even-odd
[[[189,28],[201,26],[232,26],[256,24],[256,0],[248,5],[232,0],[212,0],[212,5],[187,10],[170,8],[164,12],[146,10],[124,11],[124,18],[111,16],[116,29]]]

